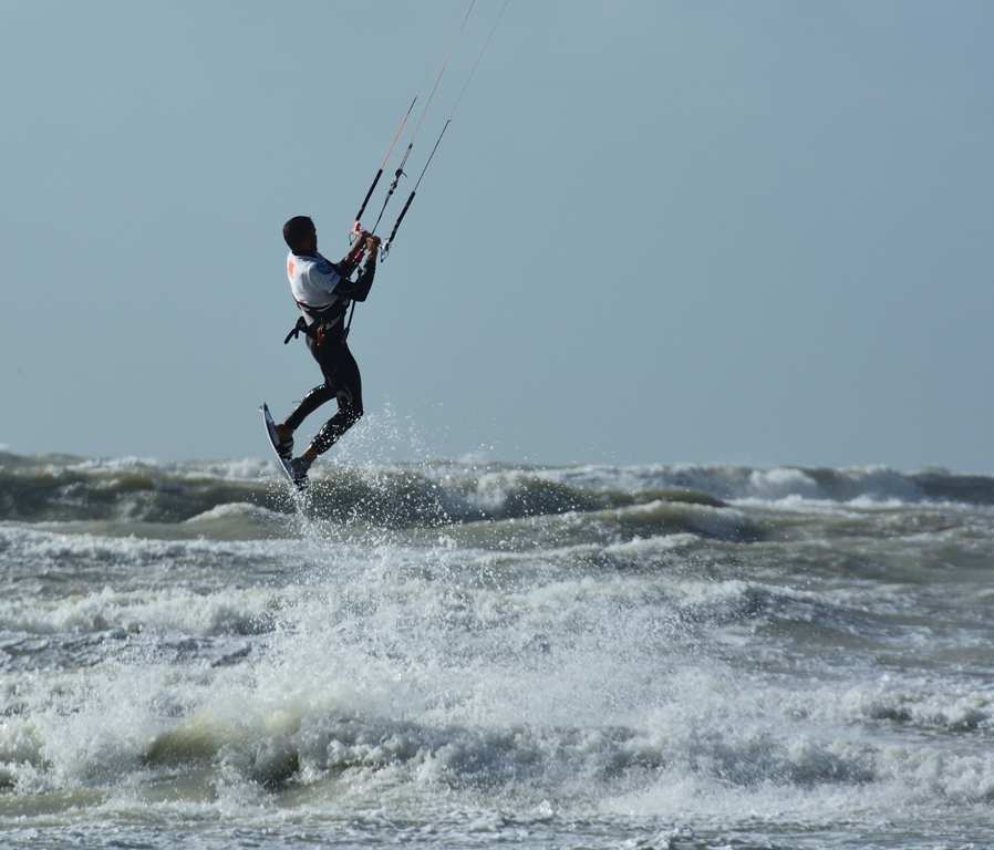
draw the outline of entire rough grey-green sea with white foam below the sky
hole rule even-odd
[[[0,453],[0,847],[994,848],[994,477],[311,477]]]

